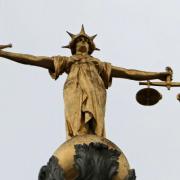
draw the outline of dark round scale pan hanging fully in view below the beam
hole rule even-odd
[[[144,106],[152,106],[162,99],[162,95],[153,88],[144,88],[137,92],[136,100],[139,104]]]

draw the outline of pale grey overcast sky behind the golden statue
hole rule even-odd
[[[179,0],[0,0],[0,44],[12,52],[65,55],[66,30],[98,34],[93,56],[147,71],[174,70],[180,81]],[[47,70],[0,58],[0,179],[36,180],[65,141],[63,84]],[[138,180],[179,180],[179,88],[156,88],[153,107],[136,102],[143,86],[114,79],[108,89],[107,138],[125,153]]]

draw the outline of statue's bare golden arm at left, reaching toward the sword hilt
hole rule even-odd
[[[33,56],[29,54],[20,54],[0,50],[0,57],[15,61],[21,64],[39,66],[54,71],[52,58],[46,56]]]

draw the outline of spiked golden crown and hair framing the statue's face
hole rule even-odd
[[[98,50],[98,51],[100,50],[100,49],[96,48],[96,46],[95,46],[95,44],[93,42],[93,40],[95,39],[97,34],[94,35],[94,36],[87,35],[85,30],[84,30],[84,26],[83,25],[81,27],[81,31],[80,31],[79,34],[75,35],[75,34],[72,34],[72,33],[68,32],[68,31],[66,31],[66,32],[71,37],[71,41],[69,42],[69,44],[67,46],[63,46],[62,48],[71,49],[71,53],[72,54],[76,53],[76,43],[79,41],[80,37],[84,37],[87,40],[88,44],[89,44],[89,52],[88,52],[88,54],[92,54],[92,52],[94,50]]]

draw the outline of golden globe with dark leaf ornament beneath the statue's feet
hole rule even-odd
[[[49,166],[48,171],[53,170],[48,172],[52,177],[60,176],[53,180],[136,179],[123,152],[108,139],[96,135],[73,137],[55,151],[50,161],[45,171]],[[39,177],[44,172],[41,169]],[[43,177],[39,180],[51,180],[50,176]]]

